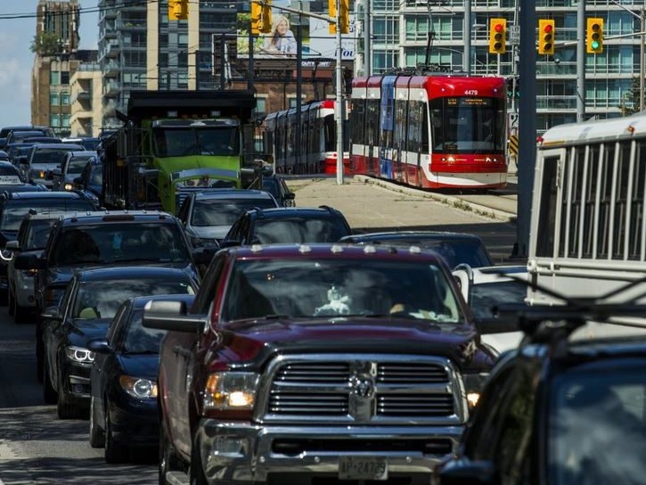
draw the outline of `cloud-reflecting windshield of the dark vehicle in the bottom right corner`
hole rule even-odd
[[[602,372],[574,371],[554,379],[547,482],[643,482],[646,378],[642,365],[626,367],[606,362]]]

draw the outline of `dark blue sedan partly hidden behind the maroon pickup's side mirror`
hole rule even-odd
[[[143,307],[168,295],[130,298],[121,304],[107,337],[87,342],[90,373],[90,446],[105,447],[105,461],[119,463],[130,448],[157,448],[157,367],[163,330],[144,328]],[[173,295],[192,305],[193,295]]]

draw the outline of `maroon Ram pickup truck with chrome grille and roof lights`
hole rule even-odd
[[[371,244],[218,251],[151,301],[160,483],[430,481],[494,364],[443,259]]]

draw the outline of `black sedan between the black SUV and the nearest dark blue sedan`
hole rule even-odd
[[[98,267],[79,270],[57,307],[43,312],[43,398],[58,416],[86,415],[94,352],[87,341],[105,337],[124,300],[168,293],[194,294],[197,283],[170,267]]]

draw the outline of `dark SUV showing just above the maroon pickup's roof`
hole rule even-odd
[[[221,246],[274,243],[336,243],[352,229],[328,206],[250,209],[235,221]]]

